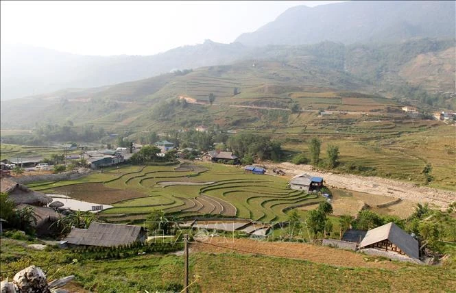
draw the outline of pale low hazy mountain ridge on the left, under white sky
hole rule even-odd
[[[152,77],[171,70],[227,64],[245,51],[240,43],[184,46],[156,55],[90,56],[25,45],[1,49],[1,100],[63,88],[91,88]]]

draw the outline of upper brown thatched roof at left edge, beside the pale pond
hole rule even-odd
[[[8,178],[2,178],[0,181],[0,191],[9,195],[9,198],[16,204],[21,203],[29,205],[48,205],[52,202],[49,196],[27,188],[27,186],[16,183]]]

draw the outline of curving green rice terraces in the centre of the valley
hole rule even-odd
[[[281,177],[252,175],[211,163],[108,168],[75,181],[29,184],[46,194],[109,204],[99,213],[109,222],[132,223],[154,210],[177,218],[198,215],[284,220],[292,207],[322,201],[317,194],[287,188]]]

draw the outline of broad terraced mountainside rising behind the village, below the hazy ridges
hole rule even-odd
[[[71,120],[75,127],[93,125],[108,131],[141,133],[200,124],[250,127],[256,123],[267,127],[272,125],[267,120],[272,116],[258,120],[264,113],[246,109],[286,110],[293,103],[313,110],[365,109],[362,104],[366,103],[372,107],[366,109],[383,111],[403,98],[406,102],[418,99],[424,105],[442,102],[445,107],[454,107],[454,97],[439,94],[454,92],[454,50],[451,39],[427,38],[370,45],[270,45],[247,51],[230,64],[2,101],[1,125],[2,129],[29,129]],[[207,105],[210,93],[216,97],[212,107]],[[188,103],[178,102],[179,97]],[[370,102],[357,97],[367,97]],[[352,104],[347,108],[343,101]]]

